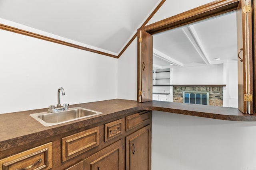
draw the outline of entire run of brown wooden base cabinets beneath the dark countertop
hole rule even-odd
[[[126,113],[0,152],[0,170],[150,170],[150,164],[151,111]]]

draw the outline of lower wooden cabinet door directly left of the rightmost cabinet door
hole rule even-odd
[[[84,160],[84,170],[123,170],[123,143],[119,140]]]

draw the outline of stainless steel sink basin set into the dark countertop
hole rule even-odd
[[[48,113],[48,112],[34,113],[34,114],[30,114],[30,116],[36,119],[37,121],[39,121],[40,123],[42,123],[42,125],[47,127],[47,126],[58,125],[61,123],[83,119],[86,117],[91,117],[99,114],[102,114],[102,113],[98,111],[90,110],[90,109],[84,109],[82,107],[74,107],[66,111],[60,111],[55,113]]]

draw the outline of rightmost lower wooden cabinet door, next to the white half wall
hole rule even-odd
[[[126,137],[126,170],[151,170],[151,125]]]

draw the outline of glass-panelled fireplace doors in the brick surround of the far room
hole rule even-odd
[[[183,103],[209,105],[209,92],[183,92]]]

